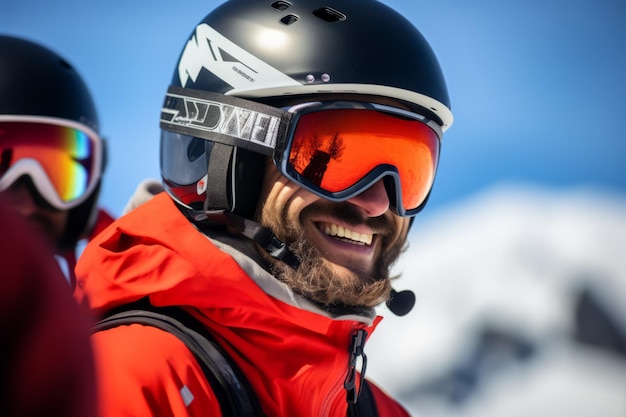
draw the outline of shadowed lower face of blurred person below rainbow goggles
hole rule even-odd
[[[68,221],[68,212],[42,207],[33,196],[32,187],[17,181],[2,194],[21,216],[28,220],[35,233],[39,233],[53,250],[62,250],[61,242]]]

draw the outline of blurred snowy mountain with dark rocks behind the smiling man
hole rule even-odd
[[[367,375],[416,416],[626,416],[626,196],[501,185],[418,217]]]

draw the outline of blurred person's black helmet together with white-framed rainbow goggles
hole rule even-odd
[[[87,85],[62,56],[0,35],[0,191],[27,179],[37,201],[69,210],[63,240],[89,232],[105,168],[105,143]]]

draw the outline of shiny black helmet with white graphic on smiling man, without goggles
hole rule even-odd
[[[161,114],[165,189],[192,219],[206,210],[252,218],[265,160],[236,142],[214,142],[210,134],[199,139],[169,123],[172,97],[197,91],[216,93],[216,102],[239,97],[275,107],[311,96],[391,98],[442,131],[453,121],[435,54],[388,6],[375,0],[226,1],[190,35]],[[192,106],[183,111],[196,117],[199,109]]]

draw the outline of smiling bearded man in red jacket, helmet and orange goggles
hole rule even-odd
[[[165,192],[87,246],[76,297],[104,315],[182,308],[239,368],[255,415],[407,415],[365,379],[363,348],[376,306],[407,310],[390,267],[449,107],[428,43],[379,2],[224,3],[166,93]],[[93,342],[102,416],[235,415],[173,334],[133,324]]]

